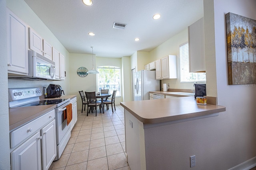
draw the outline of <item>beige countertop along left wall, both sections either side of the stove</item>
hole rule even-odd
[[[72,99],[76,95],[64,95],[60,98],[46,98],[41,100]],[[10,131],[36,119],[37,117],[55,109],[56,105],[28,106],[9,108],[9,129]]]

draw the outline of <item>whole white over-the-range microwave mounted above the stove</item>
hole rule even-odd
[[[23,80],[55,80],[55,63],[35,51],[29,50],[28,75],[8,76],[8,78]]]

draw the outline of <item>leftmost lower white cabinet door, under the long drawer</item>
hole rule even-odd
[[[41,170],[40,132],[30,137],[20,147],[11,152],[12,170]]]

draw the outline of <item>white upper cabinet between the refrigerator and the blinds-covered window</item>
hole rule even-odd
[[[161,59],[162,79],[177,78],[176,55],[168,55]]]

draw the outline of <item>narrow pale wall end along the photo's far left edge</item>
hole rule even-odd
[[[0,169],[10,169],[10,137],[8,114],[8,78],[7,78],[7,45],[6,45],[6,0],[0,0]]]

